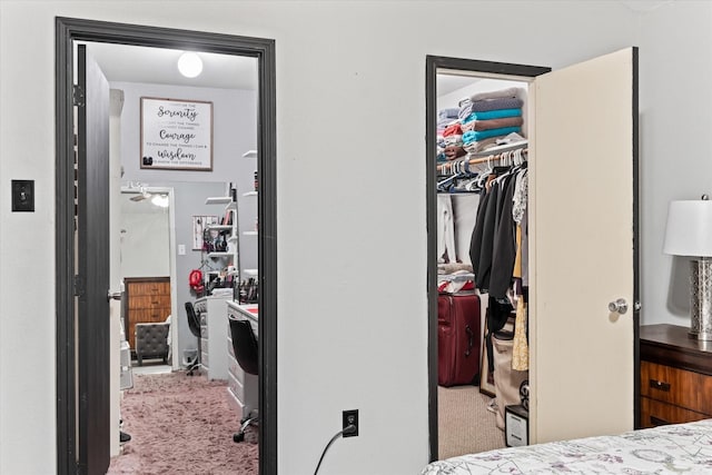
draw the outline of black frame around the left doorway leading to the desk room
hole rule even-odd
[[[77,473],[75,344],[73,46],[95,41],[247,56],[258,60],[259,473],[277,474],[277,170],[275,41],[56,18],[57,473]],[[86,362],[85,362],[86,363]],[[239,423],[236,420],[236,424]]]

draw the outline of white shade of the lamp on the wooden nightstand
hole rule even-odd
[[[671,201],[663,253],[712,257],[712,201]]]

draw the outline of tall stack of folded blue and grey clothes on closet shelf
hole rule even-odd
[[[485,151],[508,133],[521,133],[524,101],[518,96],[518,88],[507,88],[477,92],[459,102],[458,118],[465,151]]]

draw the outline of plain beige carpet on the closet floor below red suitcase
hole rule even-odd
[[[477,386],[438,386],[438,458],[505,446],[504,432],[486,408],[491,399]]]

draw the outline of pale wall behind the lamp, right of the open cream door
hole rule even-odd
[[[643,16],[641,78],[642,318],[690,325],[690,269],[662,254],[671,200],[712,195],[712,3]]]

